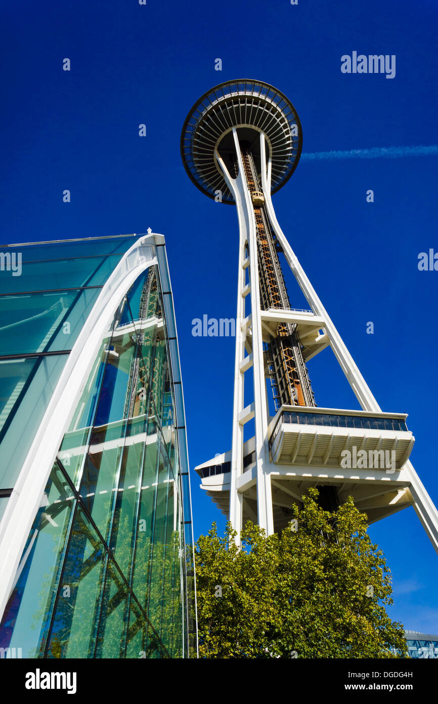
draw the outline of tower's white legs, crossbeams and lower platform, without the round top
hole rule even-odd
[[[217,166],[236,202],[240,231],[232,447],[230,452],[196,467],[202,477],[202,489],[229,516],[238,533],[243,527],[245,514],[254,522],[257,520],[266,534],[272,534],[274,510],[278,507],[287,510],[292,503],[301,501],[308,486],[316,484],[336,486],[341,501],[352,494],[358,508],[368,513],[370,522],[413,505],[438,552],[438,512],[408,460],[414,441],[410,432],[404,429],[337,429],[335,432],[327,427],[307,427],[304,432],[302,426],[288,423],[283,418],[285,410],[314,410],[327,415],[355,416],[359,426],[360,417],[367,414],[382,423],[388,419],[403,421],[406,415],[382,412],[278,225],[271,201],[271,153],[269,145],[266,149],[263,132],[260,133],[260,163],[264,204],[276,239],[311,311],[261,310],[255,212],[244,174],[237,128],[233,127],[232,132],[238,160],[236,177],[231,177],[219,151],[214,152]],[[250,272],[249,281],[245,277],[246,270]],[[250,296],[251,313],[245,317],[247,296]],[[307,358],[330,345],[362,411],[283,406],[268,422],[263,341],[266,329],[274,334],[278,322],[295,322],[298,329],[302,326],[304,335],[311,338],[311,353]],[[266,328],[269,325],[271,327]],[[245,372],[250,367],[253,370],[254,401],[244,407]],[[243,428],[252,419],[255,420],[255,436],[244,443]],[[274,433],[276,437],[272,440]],[[340,463],[340,448],[352,448],[353,444],[371,453],[390,450],[394,452],[397,464],[392,469],[344,468]],[[228,463],[229,474],[224,470]],[[222,469],[217,471],[218,467]]]

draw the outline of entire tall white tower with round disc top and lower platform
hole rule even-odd
[[[409,460],[407,415],[382,411],[278,224],[271,196],[301,150],[297,111],[262,81],[212,88],[183,125],[186,172],[205,195],[236,206],[240,242],[231,450],[195,470],[238,533],[247,520],[281,531],[316,486],[323,508],[353,496],[369,523],[413,506],[438,552],[438,513]],[[292,307],[282,264],[309,310]],[[361,410],[316,405],[307,362],[325,348]]]

